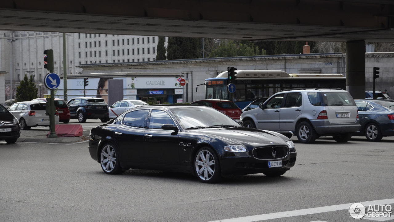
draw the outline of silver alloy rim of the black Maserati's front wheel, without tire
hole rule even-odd
[[[215,173],[215,159],[207,150],[202,150],[196,156],[195,169],[197,175],[204,181],[211,179]]]

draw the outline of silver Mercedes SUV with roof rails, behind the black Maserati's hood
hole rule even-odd
[[[360,128],[356,103],[341,89],[282,90],[242,113],[243,126],[271,130],[313,143],[320,136],[347,142]]]

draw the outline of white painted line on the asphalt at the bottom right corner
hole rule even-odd
[[[380,199],[380,200],[373,200],[373,201],[365,201],[362,202],[364,205],[374,205],[374,204],[391,204],[394,203],[393,199]],[[302,210],[295,210],[295,211],[284,211],[278,213],[270,213],[270,214],[260,214],[254,216],[244,216],[238,218],[231,218],[231,219],[224,219],[224,220],[214,220],[210,222],[254,222],[260,220],[271,220],[276,218],[284,218],[290,216],[302,216],[307,214],[318,214],[318,213],[325,213],[330,211],[341,211],[341,210],[348,210],[352,203],[345,203],[340,205],[332,205],[326,207],[315,207],[309,209],[302,209]],[[347,213],[349,214],[349,213]]]

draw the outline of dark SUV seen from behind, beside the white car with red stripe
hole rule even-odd
[[[70,119],[86,122],[87,119],[100,119],[101,122],[110,120],[108,104],[101,98],[79,97],[67,102],[70,110]]]

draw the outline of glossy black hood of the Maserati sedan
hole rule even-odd
[[[247,143],[250,145],[269,145],[272,144],[271,142],[275,142],[276,144],[286,144],[286,141],[284,141],[281,137],[278,137],[275,134],[270,134],[269,132],[264,132],[263,130],[257,130],[253,128],[208,128],[195,131],[198,131],[204,135],[221,137],[222,139],[226,139],[228,141],[235,141],[241,144]]]

